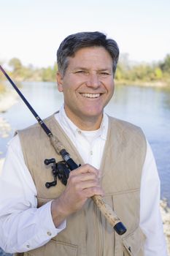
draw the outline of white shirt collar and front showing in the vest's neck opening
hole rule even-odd
[[[85,163],[99,169],[101,157],[104,151],[104,144],[107,140],[108,116],[104,113],[101,126],[95,131],[83,131],[79,129],[67,116],[63,106],[55,118],[69,135],[70,140],[77,148]]]

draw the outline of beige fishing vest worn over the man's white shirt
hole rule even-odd
[[[54,115],[45,120],[47,127],[56,135],[77,164],[83,164],[81,152],[73,146]],[[50,140],[36,124],[18,131],[26,165],[37,189],[38,207],[59,197],[65,187],[45,187],[53,181],[51,167],[44,164],[46,158],[56,154]],[[115,210],[127,227],[123,236],[117,235],[98,211],[93,200],[66,219],[66,229],[52,238],[45,246],[25,252],[24,256],[142,256],[144,234],[139,227],[140,184],[142,166],[146,154],[146,140],[138,127],[109,117],[109,128],[104,154],[101,159],[104,200]],[[74,171],[74,170],[73,170]],[[23,255],[23,254],[18,254]]]

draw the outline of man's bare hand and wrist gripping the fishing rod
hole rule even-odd
[[[55,227],[66,217],[80,210],[93,195],[104,195],[100,185],[100,173],[91,165],[82,165],[69,174],[66,189],[53,200],[51,211]]]

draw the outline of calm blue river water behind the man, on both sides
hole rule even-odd
[[[63,96],[55,83],[22,83],[22,92],[41,118],[60,108]],[[161,197],[167,198],[170,206],[170,90],[140,86],[116,86],[115,95],[105,108],[110,116],[130,121],[142,127],[150,142],[161,178]],[[3,116],[11,125],[9,138],[0,138],[0,151],[4,157],[7,141],[15,129],[34,124],[26,105],[19,100]]]

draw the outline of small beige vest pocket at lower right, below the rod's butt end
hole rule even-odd
[[[142,256],[145,236],[140,227],[137,227],[133,233],[123,238],[124,252],[123,256]]]

